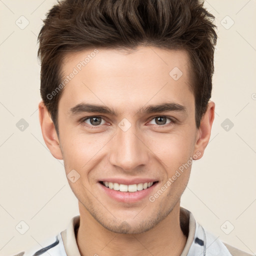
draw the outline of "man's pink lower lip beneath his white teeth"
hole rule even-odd
[[[110,189],[103,184],[99,183],[100,188],[111,198],[119,201],[119,202],[137,202],[142,200],[145,197],[149,197],[149,194],[152,193],[152,190],[154,189],[155,185],[154,183],[150,187],[146,189],[142,189],[136,192],[121,192],[119,190]]]

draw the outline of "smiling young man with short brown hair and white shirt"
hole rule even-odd
[[[214,119],[213,16],[196,0],[63,0],[39,33],[39,120],[79,216],[18,255],[249,255],[180,207]]]

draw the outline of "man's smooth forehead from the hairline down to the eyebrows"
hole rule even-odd
[[[60,101],[70,107],[79,101],[122,107],[131,107],[133,103],[144,105],[149,100],[150,103],[159,100],[193,103],[189,57],[185,50],[149,46],[130,52],[86,49],[66,55],[61,71],[62,80],[68,81]]]

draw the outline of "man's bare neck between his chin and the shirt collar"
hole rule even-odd
[[[186,236],[180,228],[179,201],[172,211],[148,231],[136,234],[119,234],[107,230],[79,204],[80,225],[77,244],[81,256],[180,255]]]

